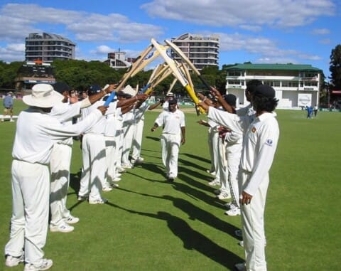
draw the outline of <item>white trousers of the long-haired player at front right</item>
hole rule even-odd
[[[239,171],[239,191],[247,186],[251,174]],[[247,271],[266,271],[264,208],[269,175],[264,177],[248,205],[240,206]]]

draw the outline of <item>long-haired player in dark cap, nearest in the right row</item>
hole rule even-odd
[[[217,92],[218,99],[222,99]],[[244,141],[239,164],[239,198],[241,204],[242,231],[245,264],[237,264],[238,270],[266,271],[264,209],[269,186],[269,170],[279,137],[278,122],[274,110],[278,104],[275,90],[269,85],[259,85],[252,93],[251,102],[255,118],[220,112],[200,102],[207,117],[232,131],[242,129]]]

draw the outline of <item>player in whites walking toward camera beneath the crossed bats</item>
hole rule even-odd
[[[151,132],[163,127],[161,134],[162,161],[168,181],[178,176],[178,155],[180,144],[185,144],[185,115],[178,110],[178,100],[168,101],[168,110],[163,110],[155,120]]]

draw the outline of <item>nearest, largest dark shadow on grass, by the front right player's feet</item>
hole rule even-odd
[[[233,270],[233,267],[236,263],[243,262],[241,257],[235,255],[226,248],[222,248],[220,245],[217,245],[205,235],[202,235],[202,233],[191,228],[185,220],[178,218],[177,216],[173,216],[171,213],[163,211],[158,211],[157,213],[146,213],[123,208],[121,206],[117,206],[114,203],[107,204],[112,207],[128,211],[129,213],[166,221],[171,232],[183,241],[183,248],[187,250],[196,250],[197,252],[202,253],[202,255],[209,257],[210,259],[218,262],[224,267],[229,268],[230,270]]]

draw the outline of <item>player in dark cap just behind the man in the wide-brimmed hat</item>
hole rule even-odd
[[[80,115],[81,108],[89,107],[97,100],[112,92],[115,85],[110,85],[97,95],[86,97],[78,102],[76,97],[70,95],[72,90],[66,83],[57,82],[53,85],[54,90],[64,96],[63,100],[54,105],[50,115],[56,117],[64,125],[72,124],[72,118]],[[72,156],[72,137],[58,142],[53,146],[50,159],[51,185],[50,185],[50,231],[70,233],[80,219],[72,216],[66,208],[67,190],[70,183],[70,164]]]

